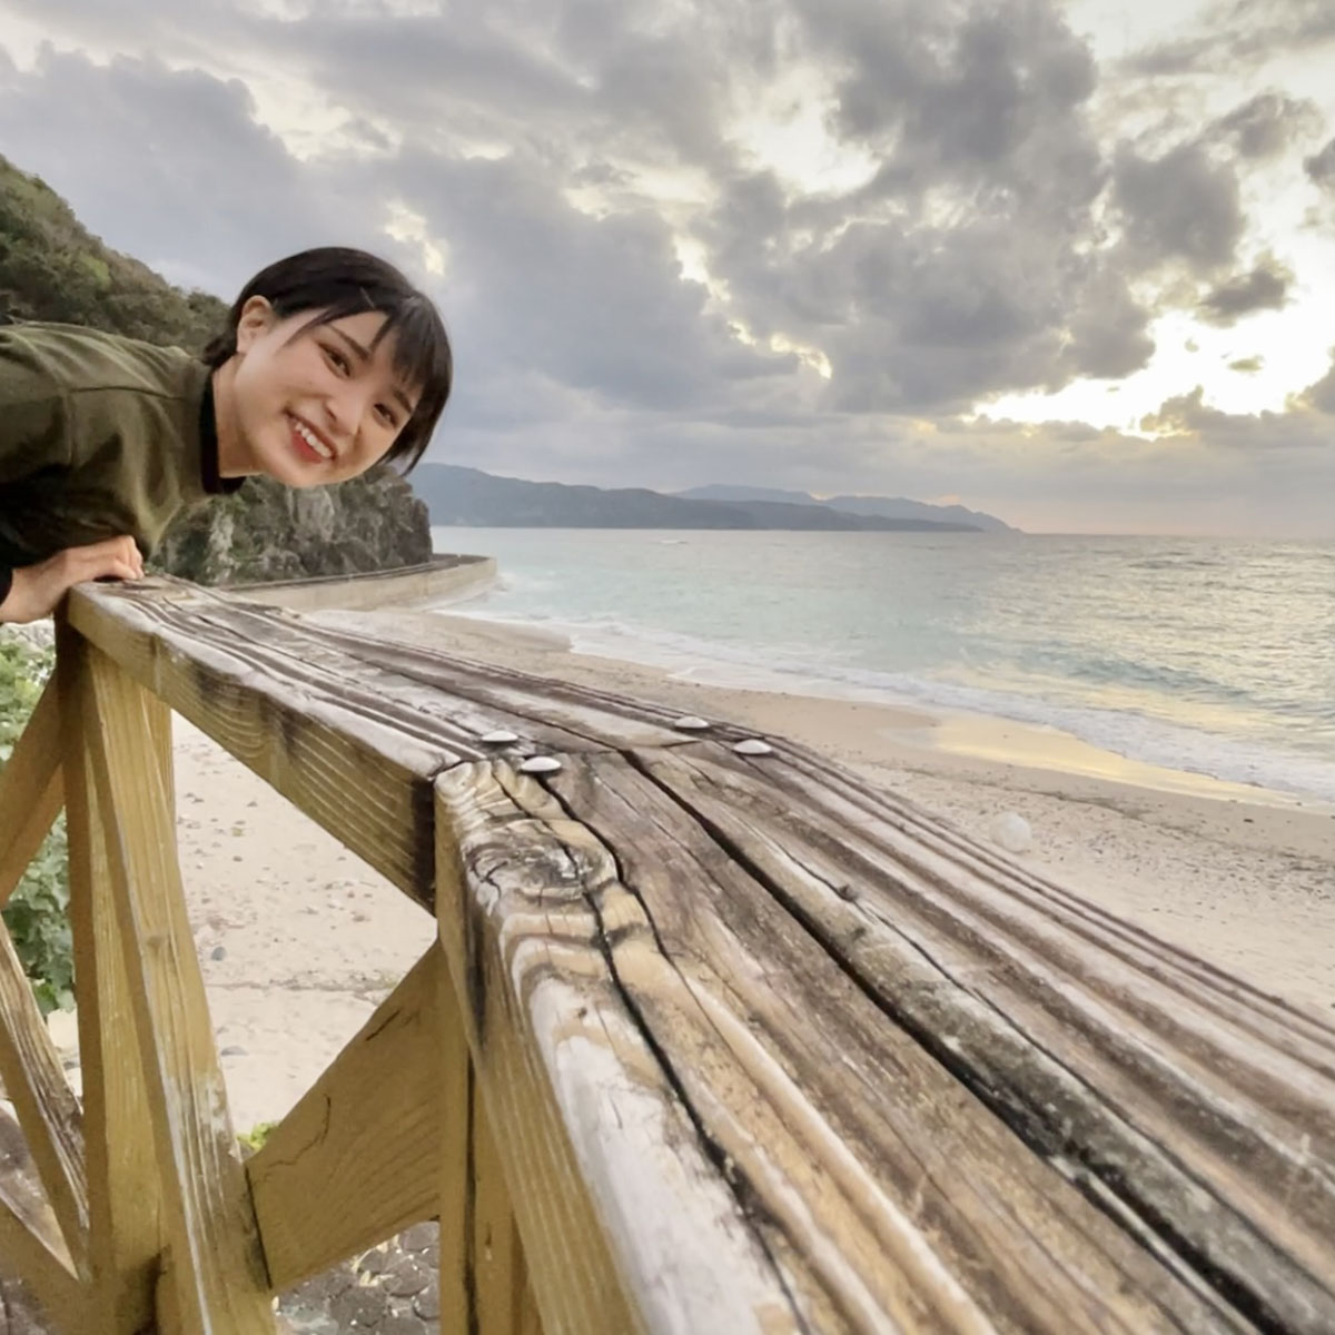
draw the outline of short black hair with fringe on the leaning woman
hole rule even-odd
[[[260,270],[242,288],[227,314],[227,330],[204,348],[204,360],[214,370],[236,355],[236,326],[252,296],[263,296],[284,320],[315,311],[311,324],[363,311],[384,315],[375,340],[394,334],[394,371],[419,394],[413,417],[384,458],[410,471],[430,443],[454,386],[454,354],[435,303],[392,264],[366,251],[344,246],[302,251]]]

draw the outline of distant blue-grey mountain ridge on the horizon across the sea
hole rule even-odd
[[[501,478],[481,469],[421,463],[413,487],[433,525],[478,529],[785,529],[836,531],[979,533],[953,518],[856,514],[765,497],[736,501],[665,495],[643,487],[603,489]],[[801,495],[801,493],[796,493]],[[788,493],[778,493],[788,495]],[[912,505],[913,502],[906,502]],[[928,507],[930,509],[930,507]],[[989,518],[989,517],[984,517]],[[1000,523],[1000,521],[993,521]]]

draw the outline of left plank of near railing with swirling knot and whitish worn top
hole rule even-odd
[[[610,968],[610,858],[509,766],[437,792],[441,940],[543,1328],[800,1330]]]

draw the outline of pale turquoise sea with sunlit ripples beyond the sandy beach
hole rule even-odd
[[[437,529],[451,613],[681,677],[1048,725],[1335,801],[1335,543]]]

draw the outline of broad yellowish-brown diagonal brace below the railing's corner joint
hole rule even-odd
[[[441,1136],[467,1124],[441,1097],[442,1061],[467,1064],[443,972],[431,947],[247,1164],[275,1290],[443,1210]]]

